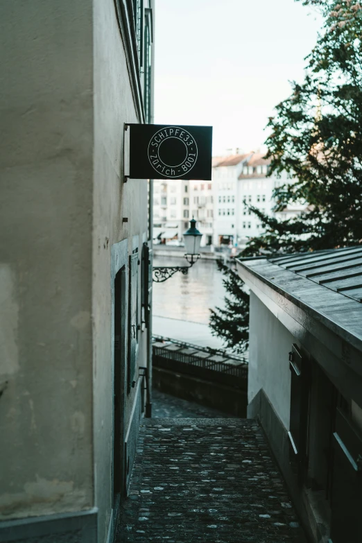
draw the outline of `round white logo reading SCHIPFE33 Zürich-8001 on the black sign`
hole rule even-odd
[[[158,130],[148,144],[148,160],[165,178],[180,178],[195,166],[198,147],[190,132],[178,126]]]

